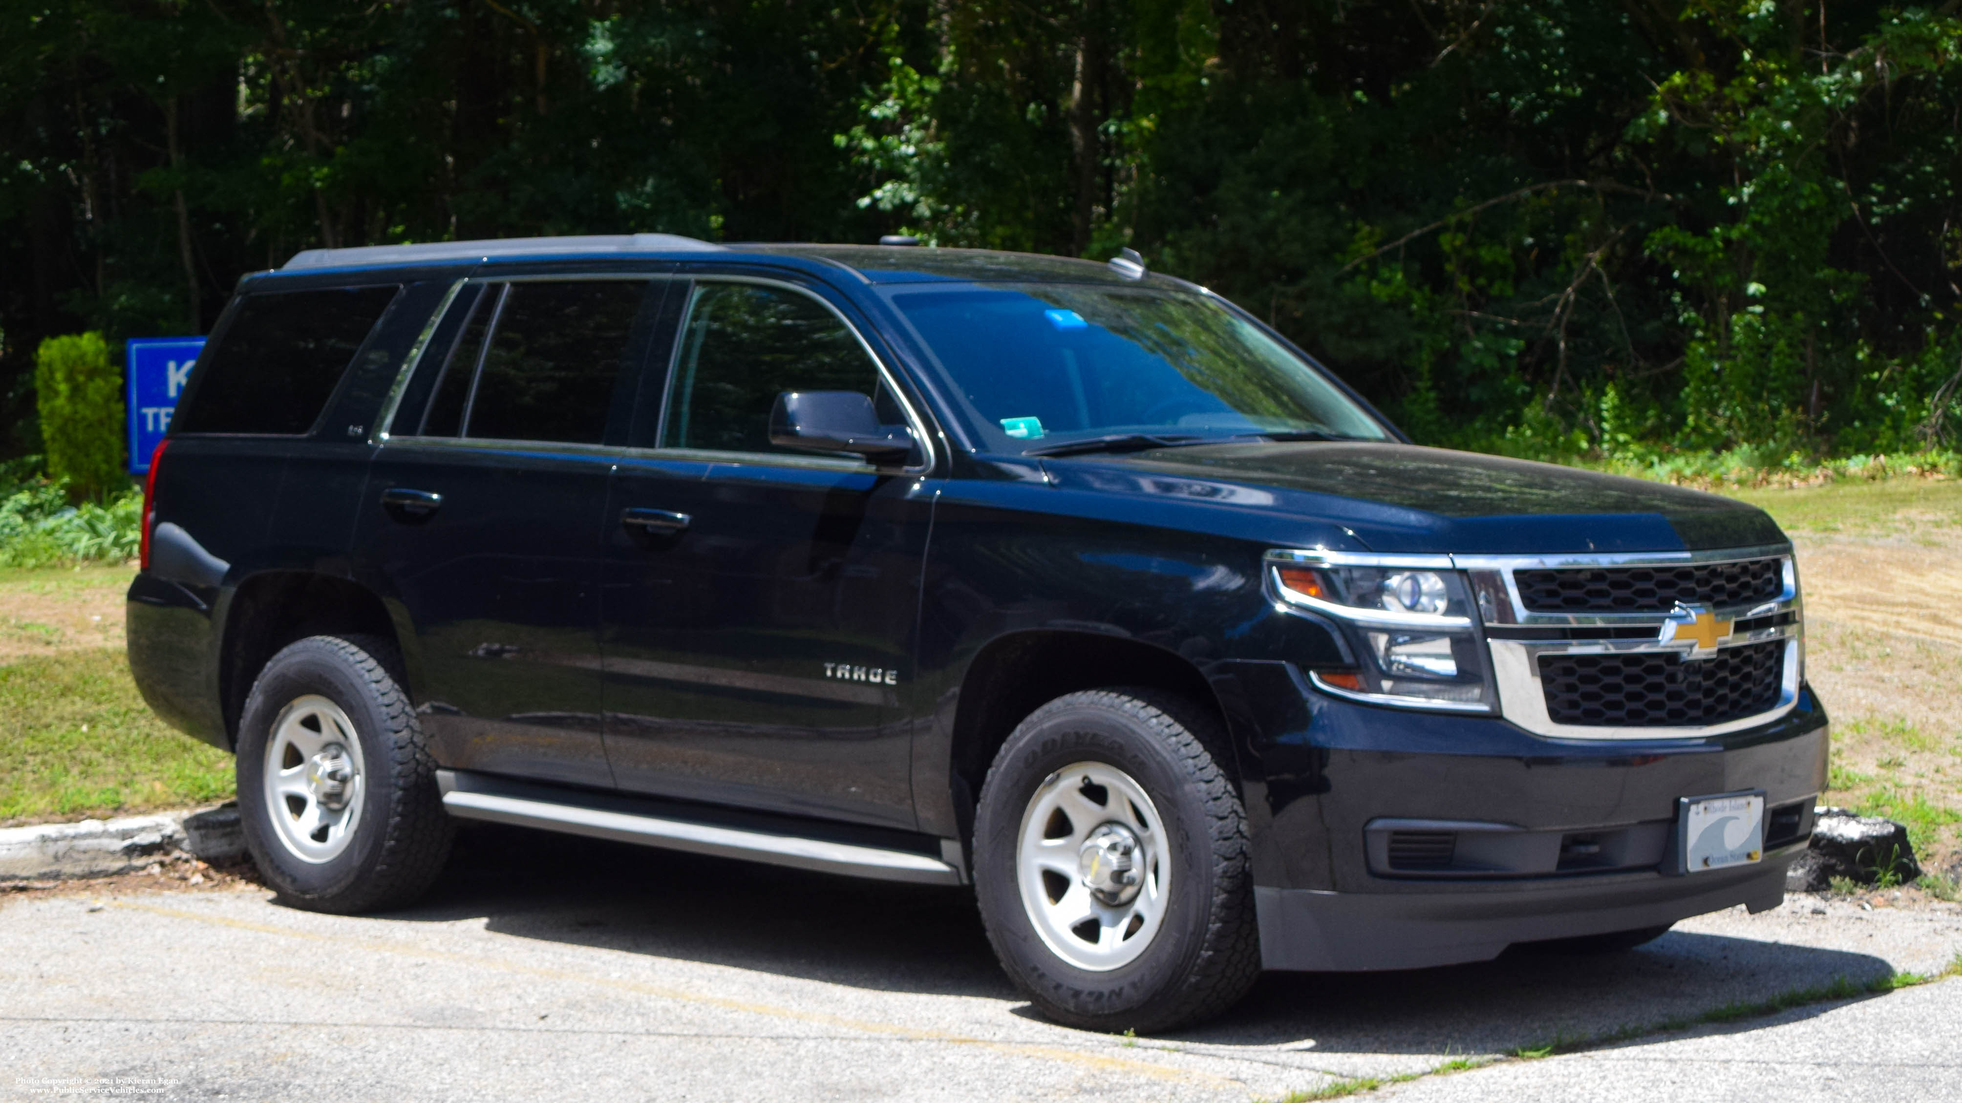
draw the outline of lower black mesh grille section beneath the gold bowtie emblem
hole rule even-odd
[[[1725,648],[1707,659],[1672,652],[1540,656],[1546,714],[1556,724],[1721,724],[1770,710],[1783,677],[1783,640]]]

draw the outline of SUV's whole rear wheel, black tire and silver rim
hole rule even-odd
[[[400,907],[449,856],[416,712],[373,636],[310,636],[259,673],[239,716],[237,793],[245,844],[292,907]]]

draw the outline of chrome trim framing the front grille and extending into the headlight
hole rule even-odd
[[[1740,716],[1736,720],[1725,720],[1721,724],[1705,726],[1679,726],[1679,728],[1617,728],[1617,726],[1593,726],[1593,724],[1556,724],[1546,710],[1546,687],[1540,683],[1540,656],[1558,654],[1687,654],[1693,644],[1689,640],[1662,640],[1664,624],[1668,624],[1668,612],[1528,612],[1524,601],[1519,597],[1519,583],[1515,581],[1515,571],[1532,569],[1575,569],[1575,567],[1644,567],[1644,565],[1705,565],[1705,563],[1740,563],[1748,559],[1781,559],[1783,561],[1783,593],[1776,599],[1762,603],[1715,606],[1709,612],[1719,620],[1752,620],[1760,616],[1791,614],[1789,624],[1778,624],[1770,628],[1756,628],[1750,632],[1732,632],[1727,636],[1719,650],[1738,648],[1744,644],[1762,644],[1770,640],[1785,642],[1785,667],[1783,683],[1780,687],[1778,705],[1764,712],[1750,716]],[[1385,628],[1430,628],[1430,630],[1464,630],[1456,624],[1446,624],[1460,618],[1440,618],[1424,614],[1383,614],[1375,610],[1354,610],[1340,604],[1332,604],[1318,599],[1309,599],[1293,591],[1281,591],[1279,577],[1273,567],[1285,563],[1301,565],[1330,565],[1330,567],[1411,567],[1411,569],[1456,569],[1470,575],[1473,597],[1481,593],[1481,583],[1493,577],[1503,583],[1501,591],[1507,597],[1505,608],[1499,608],[1495,620],[1487,620],[1483,612],[1473,618],[1479,626],[1479,636],[1485,638],[1487,652],[1491,656],[1493,689],[1497,691],[1497,709],[1491,712],[1499,718],[1513,722],[1515,726],[1542,738],[1554,740],[1585,740],[1585,742],[1640,742],[1640,740],[1707,740],[1713,736],[1725,736],[1730,732],[1740,732],[1746,728],[1756,728],[1770,724],[1787,712],[1791,712],[1799,703],[1799,687],[1805,683],[1805,603],[1799,595],[1799,575],[1797,561],[1789,544],[1762,544],[1754,548],[1723,548],[1711,552],[1587,552],[1587,553],[1558,553],[1558,555],[1411,555],[1411,553],[1371,553],[1371,552],[1330,552],[1322,548],[1309,550],[1269,550],[1265,553],[1267,565],[1267,585],[1273,587],[1273,601],[1277,608],[1287,612],[1297,612],[1299,608],[1313,608],[1315,612],[1324,612],[1328,616],[1338,616],[1346,622],[1360,626],[1385,626]],[[1485,575],[1485,579],[1481,579]],[[1283,597],[1285,595],[1285,597]],[[1362,616],[1358,616],[1362,614]],[[1470,622],[1466,622],[1470,624]],[[1485,634],[1483,626],[1507,626],[1507,628],[1654,628],[1654,638],[1642,640],[1493,640]],[[1685,659],[1697,661],[1697,659]],[[1364,701],[1371,705],[1397,705],[1407,709],[1440,709],[1438,703],[1405,703],[1387,701],[1369,695],[1358,695],[1354,691],[1344,691],[1324,683],[1315,671],[1307,671],[1309,681],[1320,693],[1332,697],[1344,697],[1352,701]],[[1472,712],[1473,709],[1452,709]],[[1485,712],[1483,707],[1475,709]]]

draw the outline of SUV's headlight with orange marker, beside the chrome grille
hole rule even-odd
[[[1342,626],[1358,663],[1315,669],[1317,687],[1405,709],[1487,712],[1497,695],[1472,614],[1472,591],[1448,559],[1391,555],[1269,555],[1285,606]]]

